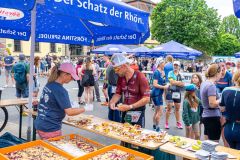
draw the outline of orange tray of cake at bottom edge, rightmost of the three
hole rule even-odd
[[[111,157],[118,159],[153,160],[153,157],[150,155],[137,152],[116,144],[104,147],[85,156],[75,158],[74,160],[93,160],[94,158],[98,158],[99,160],[111,160]]]

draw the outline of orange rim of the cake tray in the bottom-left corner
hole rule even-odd
[[[10,152],[14,152],[14,151],[24,150],[24,149],[31,148],[31,147],[37,147],[37,146],[47,148],[50,151],[55,152],[55,153],[59,154],[60,156],[63,156],[66,159],[73,159],[74,158],[70,154],[68,154],[66,152],[63,152],[62,150],[60,150],[60,149],[58,149],[54,146],[51,146],[51,145],[49,145],[48,143],[46,143],[42,140],[36,140],[36,141],[32,141],[32,142],[28,142],[28,143],[24,143],[24,144],[20,144],[20,145],[16,145],[16,146],[1,148],[0,149],[0,159],[1,160],[9,160],[8,157],[5,156],[5,154],[10,153]]]

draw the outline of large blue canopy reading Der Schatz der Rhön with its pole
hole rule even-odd
[[[81,45],[139,44],[149,37],[149,13],[115,0],[0,0],[0,37],[29,40],[30,77],[35,41]],[[32,108],[33,78],[29,81]],[[29,133],[30,132],[30,133]],[[31,114],[28,119],[28,140]]]

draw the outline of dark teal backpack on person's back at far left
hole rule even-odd
[[[14,65],[14,79],[17,85],[27,84],[27,77],[26,77],[26,64],[25,63],[17,63]]]

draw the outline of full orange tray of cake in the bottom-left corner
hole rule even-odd
[[[9,155],[10,157],[8,157]],[[32,157],[31,157],[32,156]],[[0,149],[0,159],[9,160],[9,159],[34,159],[40,158],[44,160],[58,159],[58,160],[69,160],[74,157],[70,154],[63,152],[62,150],[49,145],[48,143],[42,140],[36,140],[16,146],[6,147]]]

